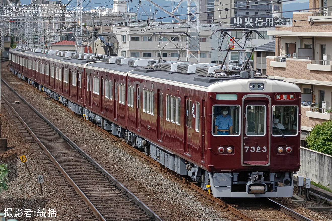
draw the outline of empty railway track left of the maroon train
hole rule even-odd
[[[7,83],[1,88],[2,99],[98,220],[162,220]]]

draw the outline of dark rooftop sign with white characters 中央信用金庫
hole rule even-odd
[[[270,28],[276,25],[292,25],[292,18],[260,18],[260,17],[234,17],[231,18],[231,25],[233,27],[261,27]]]

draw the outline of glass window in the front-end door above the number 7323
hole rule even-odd
[[[266,125],[265,106],[247,106],[245,124],[247,136],[264,136]]]

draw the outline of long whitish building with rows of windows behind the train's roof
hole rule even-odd
[[[134,28],[115,27],[114,33],[119,41],[119,55],[159,59],[161,53],[162,60],[165,61],[177,60],[178,57],[181,61],[187,60],[187,27],[185,25],[169,23],[153,27],[146,25]],[[201,48],[200,62],[211,62],[211,39],[208,39],[211,33],[209,25],[200,25],[200,35],[197,39]],[[192,57],[190,61],[196,61],[196,58]]]

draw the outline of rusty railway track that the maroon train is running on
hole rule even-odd
[[[42,93],[42,92],[41,92]],[[51,99],[52,100],[52,99]],[[52,100],[54,103],[59,104],[58,102]],[[60,104],[59,104],[60,105]],[[62,105],[60,105],[62,106]],[[69,110],[69,109],[68,109]],[[71,110],[69,110],[71,111]],[[72,112],[74,113],[74,112]],[[78,116],[78,115],[77,115]],[[83,118],[82,118],[83,119]],[[87,121],[84,121],[87,122]],[[145,158],[146,160],[154,163],[157,166],[160,166],[159,163],[154,161],[152,158],[145,156],[143,152],[139,150],[133,149],[130,145],[127,145],[124,140],[115,137],[108,133],[107,131],[102,130],[101,128],[97,127],[96,125],[92,124],[91,122],[87,122],[93,127],[97,128],[98,130],[102,131],[103,133],[107,134],[108,136],[118,140],[124,146],[129,148],[130,150],[134,151],[136,154],[140,155],[141,157]],[[214,198],[212,195],[209,195],[207,192],[202,191],[202,189],[197,186],[195,183],[192,183],[190,180],[187,180],[184,177],[180,177],[179,175],[173,173],[173,171],[164,168],[161,166],[165,171],[173,174],[176,176],[180,181],[183,183],[188,184],[193,191],[196,193],[201,194],[202,197],[209,198],[210,200],[218,203],[222,206],[222,210],[226,210],[229,212],[229,215],[225,215],[231,220],[301,220],[301,221],[310,221],[310,219],[297,214],[296,212],[270,200],[270,199],[259,199],[260,203],[256,203],[256,199],[242,199],[242,201],[246,201],[247,203],[243,204],[239,202],[234,203],[234,201],[223,201],[218,198]],[[121,179],[119,177],[119,179]],[[273,217],[273,218],[272,218]]]

